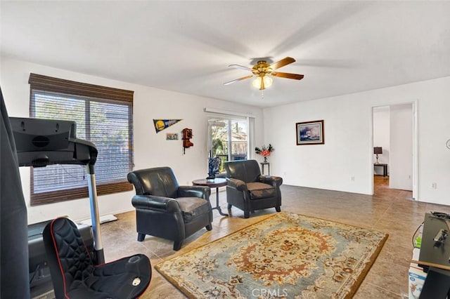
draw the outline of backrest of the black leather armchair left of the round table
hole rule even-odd
[[[155,195],[176,198],[178,180],[169,167],[156,167],[131,171],[127,179],[133,183],[136,195]]]

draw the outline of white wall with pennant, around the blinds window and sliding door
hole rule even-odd
[[[205,107],[255,115],[256,128],[262,128],[262,109],[236,103],[201,98],[157,88],[103,79],[86,74],[55,69],[2,57],[0,85],[10,117],[29,117],[30,72],[61,79],[86,82],[134,91],[134,164],[135,169],[171,166],[181,185],[207,176],[207,114]],[[153,119],[183,119],[165,131],[155,133]],[[165,133],[181,133],[183,128],[193,129],[193,147],[183,154],[182,140],[165,140]],[[262,130],[255,133],[255,142],[262,144]],[[89,200],[79,199],[58,204],[30,206],[30,171],[20,168],[23,192],[28,206],[28,222],[34,223],[69,215],[75,220],[90,217]],[[134,191],[98,197],[101,215],[133,209]]]

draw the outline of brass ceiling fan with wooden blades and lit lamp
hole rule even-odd
[[[245,77],[241,77],[238,79],[234,79],[228,82],[225,82],[224,85],[233,84],[238,81],[242,81],[245,79],[250,79],[252,77],[255,77],[255,80],[253,81],[253,86],[256,88],[259,88],[259,90],[263,90],[266,87],[271,86],[272,79],[270,76],[274,77],[281,77],[281,78],[288,78],[288,79],[295,79],[295,80],[301,80],[303,79],[302,74],[290,74],[290,73],[282,73],[282,72],[274,72],[275,69],[279,69],[280,67],[284,67],[285,65],[289,65],[290,63],[295,62],[295,59],[292,57],[286,57],[282,60],[275,62],[271,65],[266,62],[266,60],[259,60],[257,64],[253,67],[244,67],[243,65],[229,65],[229,67],[235,67],[236,69],[244,69],[247,71],[252,72],[252,74],[249,74]]]

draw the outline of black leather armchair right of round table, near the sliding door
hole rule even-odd
[[[224,164],[226,177],[226,201],[228,208],[236,206],[249,218],[250,212],[263,208],[281,211],[281,191],[283,178],[261,175],[256,160],[227,161]]]

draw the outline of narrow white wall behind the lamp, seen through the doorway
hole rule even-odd
[[[389,106],[373,108],[373,146],[382,147],[383,154],[378,154],[378,163],[388,164],[389,173],[389,153],[390,153],[390,113]],[[373,151],[372,151],[373,152]],[[373,163],[376,157],[373,154]],[[375,173],[383,175],[383,167],[375,167]]]

